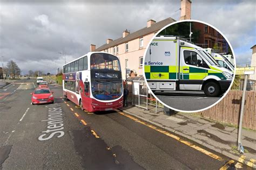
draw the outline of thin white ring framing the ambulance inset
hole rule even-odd
[[[172,108],[170,107],[169,105],[165,104],[164,102],[162,102],[161,100],[159,100],[159,98],[152,92],[151,88],[149,87],[149,84],[147,83],[147,80],[146,80],[146,76],[145,76],[145,69],[144,69],[144,65],[145,65],[145,56],[146,56],[146,52],[147,52],[147,49],[149,48],[150,46],[150,43],[153,41],[153,39],[161,32],[163,31],[166,27],[169,27],[171,25],[174,25],[174,24],[177,24],[177,23],[183,23],[183,22],[198,22],[198,23],[201,23],[201,24],[206,24],[208,26],[211,26],[213,29],[215,29],[216,31],[218,31],[221,36],[223,36],[225,38],[225,40],[227,41],[228,45],[230,46],[231,48],[231,51],[232,51],[232,54],[234,56],[234,75],[233,75],[233,79],[231,81],[231,84],[230,84],[230,87],[227,89],[226,93],[215,103],[213,103],[212,105],[209,105],[208,107],[204,108],[204,109],[200,109],[200,110],[193,110],[193,111],[186,111],[186,110],[179,110],[179,109],[175,109],[175,108]],[[208,23],[205,23],[205,22],[202,22],[200,20],[195,20],[195,19],[185,19],[185,20],[178,20],[177,22],[173,22],[171,24],[168,24],[166,26],[164,26],[162,29],[160,29],[156,34],[154,34],[154,36],[151,38],[149,44],[147,44],[147,47],[146,47],[146,50],[144,52],[144,55],[143,55],[143,76],[144,76],[144,79],[145,79],[145,83],[147,85],[147,89],[150,90],[150,93],[157,99],[158,102],[160,102],[161,104],[163,104],[165,107],[169,108],[169,109],[172,109],[172,110],[175,110],[175,111],[179,111],[179,112],[186,112],[186,113],[193,113],[193,112],[199,112],[199,111],[204,111],[204,110],[207,110],[207,109],[210,109],[211,107],[213,107],[214,105],[218,104],[221,100],[223,100],[223,98],[227,95],[227,93],[230,91],[231,87],[232,87],[232,84],[234,82],[234,78],[235,78],[235,69],[236,69],[236,61],[235,61],[235,54],[234,54],[234,51],[233,51],[233,47],[231,46],[230,44],[230,41],[228,41],[228,39],[226,38],[226,36],[220,32],[215,26],[212,26],[211,24],[208,24]]]

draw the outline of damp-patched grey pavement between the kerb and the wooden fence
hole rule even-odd
[[[172,116],[167,116],[162,111],[156,114],[154,107],[146,110],[130,106],[122,110],[226,155],[235,161],[256,168],[256,131],[254,130],[242,129],[242,145],[245,148],[245,153],[240,154],[237,151],[238,129],[234,126],[220,124],[188,113],[178,112]]]

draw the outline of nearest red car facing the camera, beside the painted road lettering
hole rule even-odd
[[[41,103],[53,103],[54,97],[53,92],[49,88],[36,88],[33,93],[31,93],[32,104],[41,104]]]

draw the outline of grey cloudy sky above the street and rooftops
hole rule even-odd
[[[179,20],[180,0],[161,1],[3,1],[0,0],[0,56],[24,71],[56,73],[65,53],[69,62],[117,39],[127,29],[142,29],[146,21]],[[192,0],[191,18],[217,27],[233,46],[237,63],[251,63],[256,44],[256,1]],[[1,65],[2,66],[2,65]]]

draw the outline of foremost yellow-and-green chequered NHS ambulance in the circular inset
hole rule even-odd
[[[150,89],[204,91],[219,96],[230,87],[233,73],[203,48],[180,37],[155,37],[147,48],[144,73]]]

